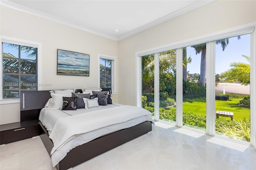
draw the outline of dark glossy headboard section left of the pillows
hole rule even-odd
[[[46,91],[20,91],[20,121],[37,120],[40,110],[51,98]]]

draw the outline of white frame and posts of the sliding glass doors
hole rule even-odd
[[[224,38],[230,38],[235,36],[240,36],[244,34],[250,34],[250,65],[254,66],[251,67],[250,71],[250,101],[251,101],[251,107],[250,107],[250,120],[251,120],[251,140],[250,144],[254,146],[254,149],[256,149],[256,33],[255,33],[255,27],[256,23],[250,23],[243,26],[238,26],[235,28],[230,28],[228,30],[223,30],[220,32],[215,32],[212,34],[207,34],[204,36],[184,40],[181,42],[176,42],[172,44],[167,44],[160,47],[155,47],[152,49],[147,49],[144,51],[136,52],[136,105],[138,107],[142,106],[141,101],[141,95],[142,95],[142,68],[141,68],[141,58],[142,56],[159,53],[162,51],[167,51],[171,49],[177,49],[178,51],[181,50],[183,47],[206,43],[207,45],[207,53],[206,53],[206,134],[210,136],[215,135],[215,113],[213,112],[213,109],[215,110],[215,43],[214,41],[224,39]],[[182,75],[182,61],[179,58],[182,58],[182,52],[177,52],[177,63],[176,63],[176,70],[177,75]],[[159,79],[158,77],[154,77],[155,79]],[[181,127],[182,126],[182,76],[177,76],[176,78],[176,126]],[[159,95],[156,96],[159,98]],[[181,98],[180,98],[181,97]],[[156,100],[156,99],[155,99]],[[179,101],[179,102],[178,102]],[[155,105],[157,103],[154,103]],[[156,106],[155,106],[156,107]],[[155,120],[158,120],[159,118],[155,117]],[[236,140],[234,140],[236,141]],[[236,141],[237,142],[237,141]]]

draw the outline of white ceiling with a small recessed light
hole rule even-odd
[[[1,0],[1,4],[112,40],[122,40],[213,1]]]

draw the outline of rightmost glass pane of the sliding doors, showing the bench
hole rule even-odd
[[[216,134],[250,142],[250,34],[215,45]]]

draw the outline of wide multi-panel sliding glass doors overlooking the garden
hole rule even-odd
[[[256,78],[250,75],[255,74],[250,65],[256,61],[250,47],[255,48],[256,35],[240,30],[232,35],[240,36],[206,38],[205,43],[178,44],[176,49],[139,56],[138,105],[152,112],[156,121],[255,143],[256,129],[251,127],[256,124],[256,109],[250,104],[255,103]]]

